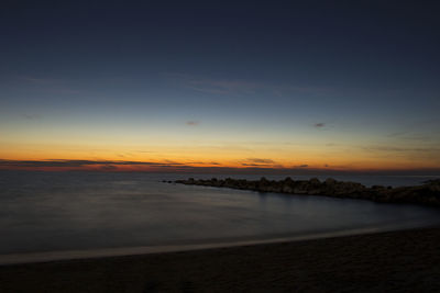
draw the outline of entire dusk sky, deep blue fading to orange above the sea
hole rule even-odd
[[[440,173],[439,14],[6,1],[0,169]]]

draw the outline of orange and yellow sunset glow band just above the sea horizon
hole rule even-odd
[[[230,169],[315,170],[374,172],[386,170],[440,169],[436,149],[419,151],[408,148],[362,148],[351,143],[334,146],[324,144],[282,144],[277,142],[221,144],[220,142],[168,142],[164,145],[2,143],[0,169],[21,170],[96,170],[185,172]],[[416,149],[415,151],[411,149]],[[73,162],[73,161],[77,162]],[[80,164],[78,161],[87,160]],[[10,161],[10,164],[6,162]],[[24,164],[29,161],[29,164]],[[51,164],[53,162],[53,164]],[[57,164],[56,164],[57,162]]]

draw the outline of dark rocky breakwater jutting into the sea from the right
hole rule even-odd
[[[169,182],[169,181],[164,181]],[[252,190],[257,192],[278,192],[289,194],[326,195],[332,198],[362,199],[383,203],[413,203],[440,207],[440,179],[429,180],[416,187],[382,187],[367,188],[356,182],[337,181],[332,178],[320,181],[317,178],[310,180],[260,180],[245,179],[194,179],[177,180],[175,183],[188,185],[204,185],[216,188],[231,188]]]

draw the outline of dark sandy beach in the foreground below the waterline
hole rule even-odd
[[[440,227],[3,266],[0,292],[440,292]]]

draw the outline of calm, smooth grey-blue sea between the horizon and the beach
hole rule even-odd
[[[440,223],[439,211],[428,207],[160,182],[187,177],[1,171],[0,253],[204,244]],[[430,179],[334,178],[385,185]]]

